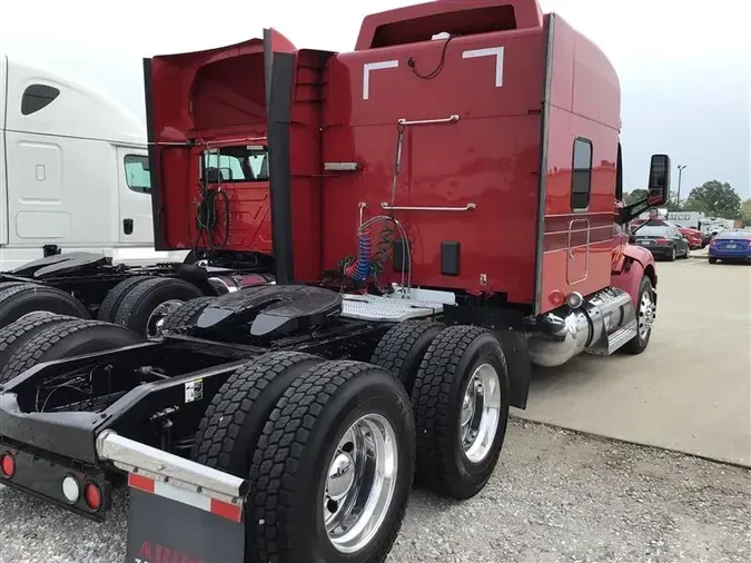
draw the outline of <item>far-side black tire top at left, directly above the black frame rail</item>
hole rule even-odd
[[[0,366],[0,382],[8,382],[36,364],[139,344],[144,339],[121,326],[98,320],[68,319],[46,326],[14,347]]]

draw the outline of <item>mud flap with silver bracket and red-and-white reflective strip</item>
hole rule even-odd
[[[128,563],[243,563],[245,480],[125,438],[97,438],[128,472]]]

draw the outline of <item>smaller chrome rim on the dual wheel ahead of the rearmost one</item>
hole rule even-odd
[[[501,379],[490,364],[478,366],[466,386],[460,416],[460,441],[464,455],[480,463],[490,454],[501,417]]]

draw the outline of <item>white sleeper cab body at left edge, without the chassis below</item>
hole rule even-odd
[[[93,89],[0,56],[0,271],[47,253],[182,261],[154,248],[146,127]]]

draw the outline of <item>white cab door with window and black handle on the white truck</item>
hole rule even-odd
[[[123,245],[154,245],[151,177],[148,151],[117,148],[119,241]]]

